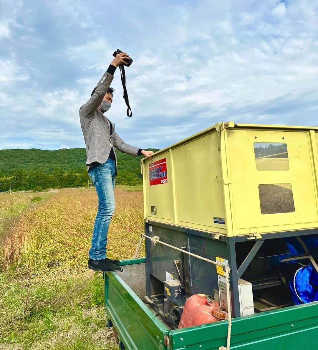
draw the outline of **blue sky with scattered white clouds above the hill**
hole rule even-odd
[[[79,108],[128,52],[107,112],[163,148],[218,121],[318,125],[318,0],[0,0],[0,148],[84,147]]]

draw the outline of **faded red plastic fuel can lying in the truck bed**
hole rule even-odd
[[[194,294],[185,302],[178,329],[226,320],[228,313],[209,295]]]

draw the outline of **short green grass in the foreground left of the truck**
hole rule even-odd
[[[101,275],[17,275],[0,274],[0,349],[116,349]]]

